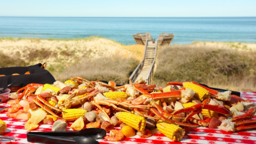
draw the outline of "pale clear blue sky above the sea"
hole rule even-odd
[[[256,0],[1,0],[0,16],[256,16]]]

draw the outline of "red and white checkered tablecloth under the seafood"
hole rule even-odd
[[[241,97],[250,99],[256,104],[256,92],[241,92]],[[0,108],[7,108],[8,104],[0,104]],[[7,124],[7,130],[3,133],[6,136],[16,137],[16,142],[2,142],[1,144],[29,144],[26,139],[27,132],[48,132],[51,131],[52,124],[39,124],[40,126],[35,130],[28,131],[24,128],[26,120],[18,120],[16,118],[9,118],[6,113],[0,114],[0,119]],[[68,130],[72,123],[68,123]],[[115,127],[120,130],[120,127]],[[225,132],[220,129],[210,129],[205,127],[191,128],[189,134],[185,134],[180,142],[173,142],[158,130],[151,130],[152,136],[149,138],[140,138],[133,136],[125,138],[121,142],[109,142],[105,139],[99,139],[101,144],[256,144],[256,128],[250,130],[243,130],[240,132]]]

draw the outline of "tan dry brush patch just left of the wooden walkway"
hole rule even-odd
[[[117,84],[127,84],[128,77],[139,61],[135,58],[85,58],[82,63],[70,66],[62,72],[52,72],[56,80],[65,82],[74,76],[80,76],[87,80],[98,81],[114,81]]]

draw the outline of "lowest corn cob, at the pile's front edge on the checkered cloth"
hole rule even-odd
[[[176,126],[175,124],[169,124],[162,120],[159,120],[156,123],[156,127],[159,130],[159,132],[161,132],[162,134],[164,134],[174,142],[176,141],[179,142],[185,135],[185,131],[179,126]]]

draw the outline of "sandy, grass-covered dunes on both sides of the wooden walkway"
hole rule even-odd
[[[142,60],[144,46],[125,45],[97,36],[77,39],[0,38],[0,51],[0,67],[47,62],[46,70],[56,80],[81,76],[88,80],[112,80],[125,84]],[[170,81],[194,80],[231,90],[255,91],[255,54],[256,44],[242,42],[196,41],[158,47],[153,82],[164,86]],[[215,57],[217,59],[209,59]]]

